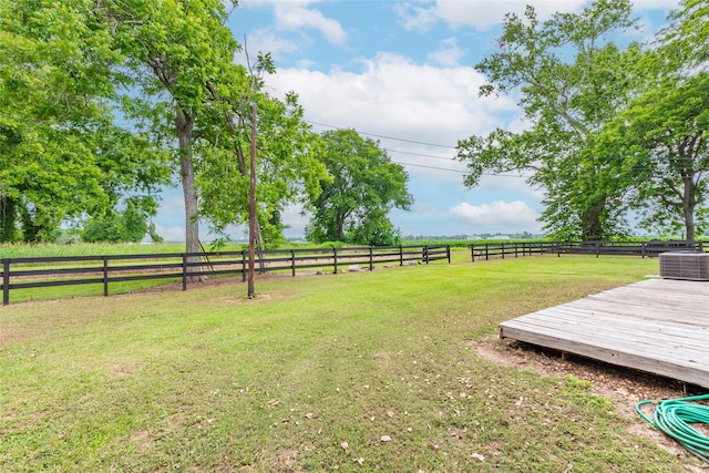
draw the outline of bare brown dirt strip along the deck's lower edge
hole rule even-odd
[[[680,381],[649,373],[615,367],[602,361],[577,356],[562,359],[558,351],[493,335],[467,345],[475,353],[497,364],[534,371],[544,377],[564,378],[573,376],[590,382],[590,391],[613,401],[619,415],[633,422],[628,431],[656,443],[667,452],[685,459],[685,467],[692,472],[707,472],[697,466],[696,459],[679,443],[645,422],[635,411],[635,405],[646,399],[662,400],[703,394],[706,390]],[[646,411],[650,414],[650,411]]]

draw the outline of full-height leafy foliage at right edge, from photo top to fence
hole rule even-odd
[[[597,148],[617,155],[619,179],[633,179],[631,204],[646,228],[693,240],[709,224],[709,7],[686,0],[669,18],[643,62],[648,80]]]

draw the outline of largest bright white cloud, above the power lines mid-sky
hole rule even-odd
[[[360,59],[357,65],[356,72],[281,69],[267,82],[277,94],[295,91],[307,120],[374,133],[393,161],[428,166],[410,166],[410,174],[425,173],[456,183],[465,171],[453,160],[458,141],[505,126],[500,113],[517,110],[506,97],[479,97],[485,80],[472,68],[434,68],[387,53]]]

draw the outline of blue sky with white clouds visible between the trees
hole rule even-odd
[[[524,130],[514,96],[479,97],[485,83],[474,64],[494,51],[505,13],[533,4],[541,20],[579,11],[587,1],[240,0],[229,27],[251,56],[270,52],[277,73],[267,78],[276,96],[296,92],[314,131],[354,128],[378,140],[404,165],[410,212],[390,218],[402,235],[538,233],[542,193],[524,176],[485,176],[463,185],[465,167],[455,144],[495,127]],[[650,40],[678,0],[635,1],[643,24],[618,41]],[[244,58],[236,58],[244,61]],[[165,193],[155,224],[167,240],[184,240],[178,189]],[[290,208],[286,236],[302,236],[308,217]],[[203,225],[202,239],[209,240]],[[243,229],[235,228],[235,238]]]

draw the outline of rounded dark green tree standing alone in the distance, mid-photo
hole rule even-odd
[[[387,213],[409,209],[412,203],[403,167],[353,130],[325,132],[322,137],[330,179],[320,182],[322,193],[312,204],[306,236],[316,243],[395,244],[399,232]]]

